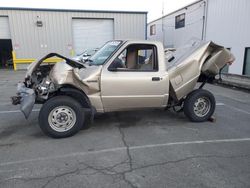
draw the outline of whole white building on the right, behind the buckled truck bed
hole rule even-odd
[[[250,1],[199,0],[148,24],[148,39],[179,47],[191,38],[229,48],[236,61],[229,73],[250,75]]]

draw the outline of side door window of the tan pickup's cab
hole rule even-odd
[[[157,71],[156,47],[153,45],[130,45],[110,65],[118,71]]]

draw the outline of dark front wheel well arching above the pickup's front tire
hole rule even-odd
[[[77,100],[82,105],[82,107],[91,108],[91,102],[88,96],[83,91],[74,86],[64,85],[57,91],[56,95],[70,96]]]

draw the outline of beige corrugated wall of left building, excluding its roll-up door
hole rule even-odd
[[[9,18],[12,45],[17,58],[37,59],[49,52],[71,55],[71,48],[74,48],[72,18],[114,19],[115,39],[146,37],[146,13],[1,10],[0,8],[0,16]],[[42,27],[37,27],[37,20],[43,22]]]

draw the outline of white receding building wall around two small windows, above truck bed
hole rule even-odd
[[[204,2],[200,1],[164,16],[163,19],[151,22],[147,27],[148,39],[162,41],[165,47],[179,47],[191,38],[202,39],[204,5]],[[183,13],[185,13],[185,27],[175,29],[175,17]],[[156,35],[150,36],[150,26],[154,24]]]

